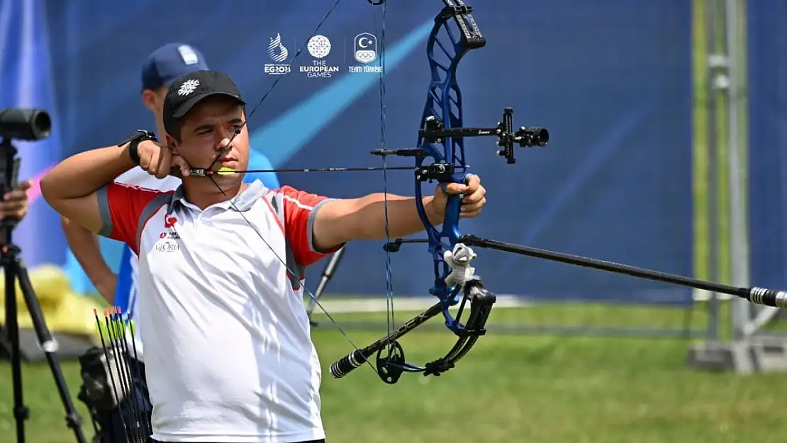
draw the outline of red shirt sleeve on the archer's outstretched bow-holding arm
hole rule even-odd
[[[314,249],[314,217],[322,205],[331,201],[330,198],[291,186],[283,186],[281,192],[284,195],[284,232],[298,264],[308,266],[341,248],[338,246],[330,251]]]

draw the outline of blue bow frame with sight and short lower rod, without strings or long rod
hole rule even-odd
[[[395,383],[403,372],[423,372],[424,375],[440,375],[448,371],[475,345],[486,330],[486,319],[495,302],[495,295],[486,290],[481,279],[473,272],[471,260],[475,253],[460,242],[459,219],[461,196],[448,198],[442,229],[434,227],[423,207],[424,182],[464,183],[467,179],[467,163],[464,156],[464,137],[493,136],[509,164],[515,163],[514,148],[519,146],[545,146],[549,133],[540,127],[513,129],[513,109],[506,108],[503,120],[495,127],[463,127],[462,94],[456,82],[456,68],[462,57],[471,50],[482,48],[486,39],[481,35],[471,13],[471,6],[461,0],[443,0],[445,8],[434,19],[434,28],[427,42],[427,57],[431,70],[431,83],[427,91],[427,102],[418,135],[417,147],[399,150],[374,150],[371,153],[387,157],[414,157],[416,160],[416,207],[426,227],[427,238],[397,239],[386,242],[386,254],[395,253],[403,243],[427,243],[434,261],[434,287],[429,291],[438,302],[425,312],[410,319],[385,337],[356,349],[348,356],[331,365],[331,374],[343,377],[360,367],[369,357],[377,354],[377,372],[383,381]],[[383,168],[385,169],[385,168]],[[389,258],[390,263],[390,258]],[[390,286],[389,286],[389,292]],[[392,294],[389,293],[389,296]],[[456,317],[449,308],[459,304]],[[467,323],[460,323],[464,309],[469,304]],[[405,362],[405,353],[398,343],[401,336],[419,325],[441,314],[445,327],[459,337],[456,345],[445,356],[427,363],[423,367]]]

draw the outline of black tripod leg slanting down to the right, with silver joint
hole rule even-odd
[[[13,272],[9,272],[12,270]],[[39,305],[39,299],[35,295],[35,291],[30,282],[28,269],[24,267],[22,260],[15,258],[9,261],[9,265],[6,268],[6,275],[9,273],[17,274],[17,279],[19,279],[19,286],[22,289],[24,302],[28,306],[28,311],[30,312],[33,327],[35,328],[35,335],[39,338],[41,349],[46,355],[46,361],[49,363],[50,369],[52,370],[52,375],[57,385],[57,392],[60,394],[60,399],[65,407],[65,422],[67,426],[74,431],[76,441],[85,443],[85,436],[82,434],[82,417],[76,412],[71,394],[68,393],[68,386],[65,383],[65,378],[63,378],[60,361],[57,359],[57,341],[54,340],[49,328],[46,327],[46,322],[41,312],[41,306]],[[6,288],[7,287],[9,287],[8,282],[6,282]],[[13,287],[13,280],[11,281],[11,287]]]

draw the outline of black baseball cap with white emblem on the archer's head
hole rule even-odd
[[[200,70],[174,79],[164,98],[164,130],[173,134],[171,130],[176,129],[177,120],[183,118],[194,105],[214,95],[235,98],[239,105],[246,105],[241,98],[241,91],[224,72]]]

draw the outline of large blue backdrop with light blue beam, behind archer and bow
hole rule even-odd
[[[486,6],[485,6],[486,5]],[[139,67],[165,42],[197,46],[228,72],[253,107],[253,149],[276,167],[376,166],[378,77],[349,73],[356,35],[380,38],[380,8],[342,2],[320,34],[331,52],[306,51],[286,76],[272,76],[268,45],[280,35],[290,57],[327,2],[48,2],[57,112],[68,153],[117,142],[152,127],[139,100]],[[429,72],[425,42],[436,0],[392,2],[386,23],[386,142],[416,142]],[[187,11],[184,13],[183,11]],[[467,141],[469,163],[489,204],[462,231],[563,252],[692,273],[690,5],[641,2],[481,2],[474,13],[487,46],[460,65],[468,125],[496,124],[504,106],[515,124],[549,127],[549,147],[519,151],[507,165],[491,139]],[[86,17],[102,17],[98,22]],[[145,17],[156,17],[145,24]],[[162,27],[162,20],[168,26]],[[301,66],[338,66],[309,78]],[[391,159],[389,164],[407,164]],[[282,183],[353,197],[382,190],[379,173],[287,174]],[[412,174],[390,172],[391,192],[412,194]],[[425,188],[427,191],[430,188]],[[385,290],[382,242],[348,246],[331,292]],[[499,293],[686,303],[689,291],[597,271],[479,250],[478,272]],[[116,260],[116,259],[115,259]],[[393,260],[397,294],[423,295],[432,279],[423,247]],[[321,265],[312,268],[316,282]]]

